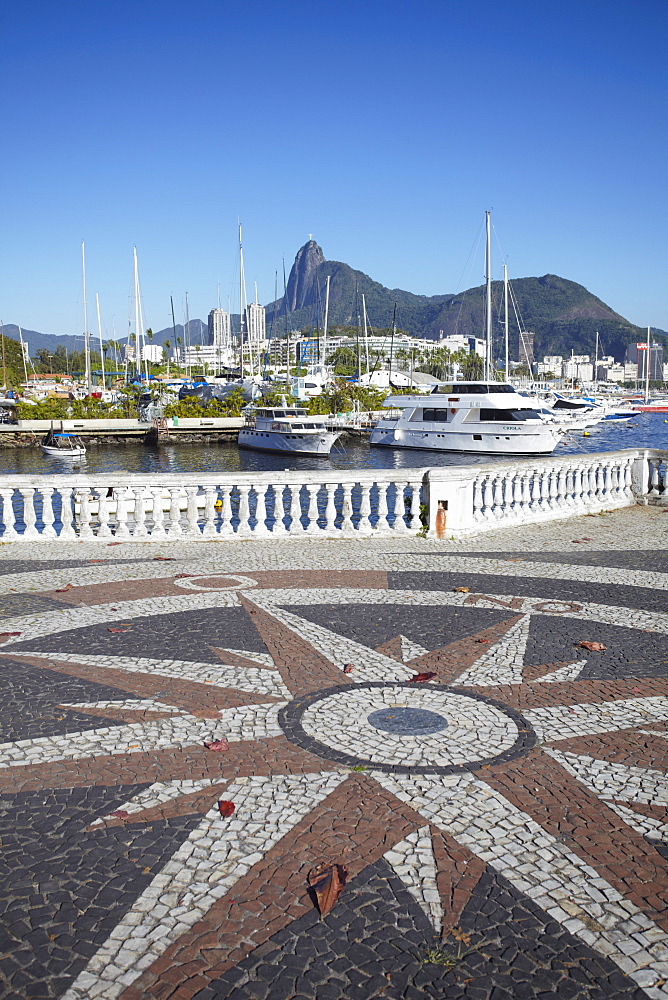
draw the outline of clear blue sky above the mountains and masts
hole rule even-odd
[[[127,332],[249,297],[309,233],[390,287],[455,292],[484,210],[552,272],[668,329],[666,0],[5,4],[0,317]],[[495,276],[501,274],[496,249]],[[373,321],[373,317],[371,317]],[[92,324],[89,324],[92,325]]]

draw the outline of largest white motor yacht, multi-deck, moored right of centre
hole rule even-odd
[[[481,455],[549,455],[563,427],[548,423],[504,382],[451,382],[429,396],[389,396],[400,410],[377,422],[372,445]]]

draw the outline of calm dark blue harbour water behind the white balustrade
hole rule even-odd
[[[668,450],[668,417],[640,413],[628,423],[611,421],[590,428],[589,437],[573,432],[557,445],[554,456],[620,448]],[[498,461],[507,460],[499,456]],[[221,444],[89,445],[84,463],[47,458],[36,448],[0,450],[0,473],[62,475],[68,472],[273,472],[295,469],[414,469],[434,465],[479,465],[494,461],[489,455],[371,448],[366,440],[351,438],[335,445],[329,458],[296,458],[246,451]]]

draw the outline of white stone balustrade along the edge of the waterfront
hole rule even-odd
[[[7,475],[0,540],[457,538],[636,503],[668,506],[668,452],[404,470]]]

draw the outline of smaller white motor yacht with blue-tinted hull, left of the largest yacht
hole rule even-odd
[[[325,417],[299,407],[247,406],[237,438],[240,448],[290,455],[329,455],[343,430],[331,430]]]

